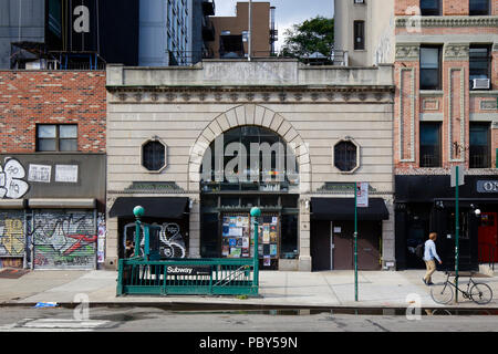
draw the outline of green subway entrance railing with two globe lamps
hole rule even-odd
[[[118,262],[117,295],[258,295],[258,254],[247,259],[162,259],[160,228],[141,222],[145,209],[134,208],[135,256]],[[251,210],[258,218],[261,211]],[[255,250],[258,221],[255,220]],[[142,247],[143,244],[143,247]]]

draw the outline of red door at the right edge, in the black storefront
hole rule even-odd
[[[483,212],[479,225],[479,262],[498,262],[498,214]],[[492,259],[491,259],[492,258]]]

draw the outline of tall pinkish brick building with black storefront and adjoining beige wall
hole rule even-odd
[[[378,12],[381,11],[381,12]],[[498,260],[498,3],[491,0],[335,1],[338,51],[350,65],[395,64],[394,173],[398,269],[428,232],[455,264]],[[460,178],[461,179],[461,178]],[[480,211],[480,215],[479,215]]]

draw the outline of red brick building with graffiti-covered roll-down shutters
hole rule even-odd
[[[0,268],[97,267],[97,239],[105,236],[105,76],[0,72]]]

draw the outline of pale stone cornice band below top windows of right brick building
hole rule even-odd
[[[467,17],[467,15],[429,15],[429,17],[397,17],[396,28],[413,27],[414,23],[422,28],[471,28],[471,27],[498,27],[498,15]]]

